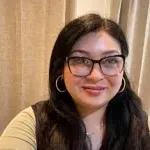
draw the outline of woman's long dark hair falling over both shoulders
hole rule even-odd
[[[122,29],[115,22],[101,18],[98,14],[87,14],[67,24],[55,42],[49,69],[50,98],[39,116],[40,149],[88,150],[90,140],[86,128],[70,94],[56,89],[56,79],[63,74],[66,57],[75,42],[89,32],[104,30],[115,38],[121,52],[128,56],[128,44]],[[109,102],[106,109],[106,133],[101,150],[149,150],[150,136],[147,115],[141,100],[132,90],[124,72],[125,90]],[[59,86],[65,88],[64,82]]]

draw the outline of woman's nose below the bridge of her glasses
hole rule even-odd
[[[91,73],[87,76],[87,79],[93,80],[93,81],[99,81],[104,78],[104,74],[101,71],[101,68],[98,63],[94,64],[93,70]]]

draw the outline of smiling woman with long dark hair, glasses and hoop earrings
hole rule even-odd
[[[52,51],[49,100],[20,113],[32,123],[14,119],[0,149],[24,141],[38,150],[150,150],[147,115],[125,72],[128,53],[111,20],[87,14],[67,24]],[[15,123],[23,127],[12,133]]]

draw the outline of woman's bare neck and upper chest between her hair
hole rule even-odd
[[[99,149],[105,134],[105,112],[106,107],[92,109],[92,108],[79,108],[83,122],[86,127],[87,138],[92,143],[92,149]]]

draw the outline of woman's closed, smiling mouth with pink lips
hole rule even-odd
[[[91,96],[98,96],[106,90],[106,87],[83,86],[83,89],[86,93],[88,93]]]

